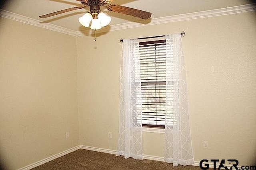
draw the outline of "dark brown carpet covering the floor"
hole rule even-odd
[[[173,167],[166,162],[125,159],[124,156],[79,149],[32,170],[200,170],[200,167]]]

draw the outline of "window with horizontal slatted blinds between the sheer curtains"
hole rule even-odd
[[[143,127],[164,128],[167,118],[166,40],[140,42],[139,53],[142,116],[137,120],[142,121]]]

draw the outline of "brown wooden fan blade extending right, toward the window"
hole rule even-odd
[[[130,15],[130,16],[142,18],[144,20],[151,17],[151,12],[137,10],[137,9],[129,8],[129,7],[126,7],[126,6],[110,4],[107,7],[108,7],[108,10],[110,10],[110,11],[114,11],[114,12],[118,12],[118,13],[121,13],[121,14],[126,14],[126,15]]]

